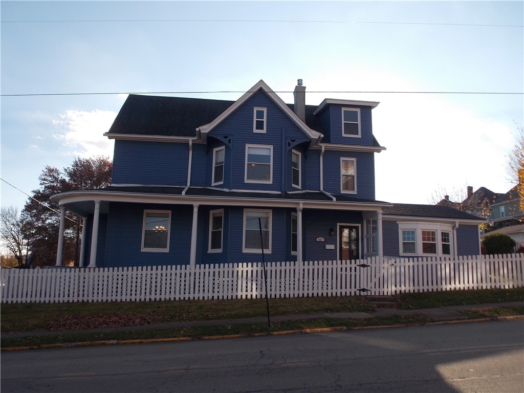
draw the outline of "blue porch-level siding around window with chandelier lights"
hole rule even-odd
[[[145,209],[171,211],[169,253],[140,251]],[[191,205],[112,203],[105,265],[120,267],[189,264],[192,217]]]

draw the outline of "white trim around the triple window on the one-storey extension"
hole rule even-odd
[[[402,231],[415,231],[415,253],[402,253]],[[435,231],[436,254],[424,254],[422,252],[422,231]],[[450,254],[442,253],[442,232],[450,234]],[[453,226],[451,224],[435,224],[426,222],[399,222],[399,255],[400,256],[423,256],[423,257],[451,257],[453,255]],[[447,243],[446,243],[447,244]]]

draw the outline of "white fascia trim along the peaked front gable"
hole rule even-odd
[[[251,89],[249,89],[246,93],[244,93],[242,97],[240,97],[237,101],[235,101],[233,105],[228,107],[224,112],[222,112],[218,117],[216,117],[211,123],[204,124],[196,128],[197,132],[200,132],[203,134],[202,139],[205,139],[205,134],[209,133],[213,128],[215,128],[222,121],[224,121],[224,119],[227,118],[227,116],[231,115],[239,106],[241,106],[244,102],[246,102],[249,99],[249,97],[255,94],[259,89],[262,89],[270,97],[270,99],[273,102],[275,102],[275,104],[277,104],[281,108],[281,110],[284,111],[291,118],[291,120],[300,129],[302,129],[303,132],[306,135],[308,135],[313,141],[318,141],[322,139],[323,135],[309,128],[300,119],[300,117],[297,116],[296,113],[290,110],[290,108],[286,105],[286,103],[283,102],[282,99],[274,91],[272,91],[263,80],[260,80],[256,85],[254,85]]]

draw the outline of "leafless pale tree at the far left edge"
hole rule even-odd
[[[18,262],[19,268],[28,267],[29,247],[18,209],[14,206],[2,208],[0,216],[2,219],[2,224],[0,225],[0,240],[9,252],[13,254]]]

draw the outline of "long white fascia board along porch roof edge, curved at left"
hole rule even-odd
[[[54,194],[50,200],[59,206],[75,202],[103,201],[103,202],[130,202],[151,204],[220,204],[224,206],[265,206],[275,208],[296,208],[302,205],[309,209],[330,209],[348,211],[381,211],[390,203],[364,203],[364,202],[333,202],[333,201],[290,201],[288,199],[266,198],[231,198],[221,196],[194,196],[194,195],[165,195],[165,194],[139,194],[132,192],[99,192],[99,191],[69,191]],[[67,206],[66,206],[67,207]]]

